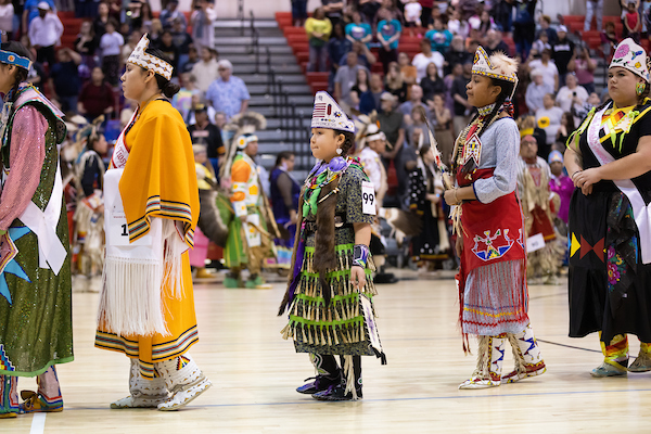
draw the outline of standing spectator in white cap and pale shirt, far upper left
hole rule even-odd
[[[51,13],[47,1],[38,3],[38,16],[29,24],[29,42],[36,49],[36,61],[54,65],[54,46],[63,35],[63,24],[55,13]]]

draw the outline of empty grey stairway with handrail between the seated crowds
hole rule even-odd
[[[280,151],[296,153],[296,179],[306,175],[311,167],[312,158],[308,143],[309,118],[312,110],[312,92],[297,64],[292,49],[278,24],[273,20],[255,20],[259,55],[256,71],[256,39],[251,24],[244,28],[237,20],[218,20],[215,22],[215,48],[219,59],[227,59],[233,64],[233,75],[242,78],[251,93],[248,107],[267,118],[267,129],[258,131],[259,163],[269,168],[276,162]],[[267,60],[267,50],[269,59]],[[282,91],[288,93],[289,104],[273,106],[273,92],[278,86],[269,86],[269,67],[273,69],[277,82],[281,82]],[[290,116],[290,106],[295,104],[296,118]]]

